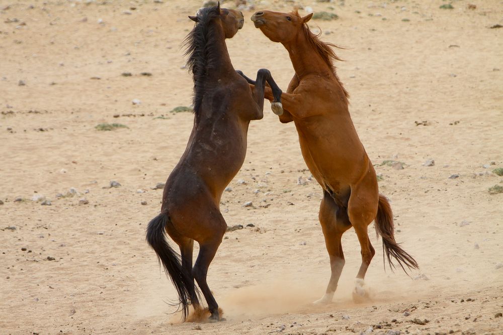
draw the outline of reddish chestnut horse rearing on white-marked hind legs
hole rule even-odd
[[[365,273],[375,251],[367,227],[375,220],[390,267],[391,257],[405,271],[418,268],[415,260],[395,242],[393,214],[388,200],[379,194],[374,167],[351,120],[348,92],[339,81],[333,60],[339,60],[331,43],[323,43],[311,33],[307,22],[312,14],[260,11],[251,17],[273,42],[288,50],[295,70],[286,93],[281,95],[282,123],[293,121],[299,135],[302,156],[323,188],[319,221],[330,258],[331,276],[326,293],[316,303],[332,301],[345,260],[341,237],[351,227],[361,246],[362,264],[353,297],[367,297]],[[266,88],[265,96],[273,99]]]

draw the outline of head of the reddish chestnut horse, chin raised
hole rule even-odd
[[[304,23],[312,13],[301,17],[297,12],[280,13],[260,11],[251,16],[255,27],[259,28],[273,42],[290,42],[302,31]]]

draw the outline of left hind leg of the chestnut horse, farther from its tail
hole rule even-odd
[[[337,289],[339,277],[345,264],[341,238],[348,229],[351,228],[345,208],[337,205],[331,196],[324,192],[323,200],[319,207],[319,222],[325,238],[325,246],[330,258],[330,280],[326,287],[325,294],[315,304],[330,303],[333,293]]]

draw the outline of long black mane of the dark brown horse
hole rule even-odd
[[[185,56],[189,56],[187,67],[192,72],[194,79],[194,96],[192,103],[194,113],[198,113],[201,108],[203,98],[204,77],[208,69],[216,63],[216,52],[212,52],[216,45],[216,34],[211,28],[211,22],[220,15],[218,6],[202,8],[197,13],[198,22],[194,29],[187,35],[184,41],[186,46]]]

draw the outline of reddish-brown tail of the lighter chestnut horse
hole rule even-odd
[[[394,227],[393,227],[393,213],[388,199],[382,194],[379,194],[379,204],[377,206],[377,216],[375,218],[375,227],[377,235],[382,237],[382,247],[388,258],[388,263],[393,270],[395,265],[391,262],[391,257],[398,261],[403,271],[407,273],[403,265],[409,269],[418,269],[416,261],[402,249],[402,247],[395,242]],[[383,254],[384,257],[384,254]]]

